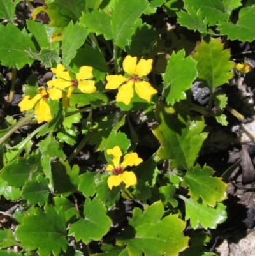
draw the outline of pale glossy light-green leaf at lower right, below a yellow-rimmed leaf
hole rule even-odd
[[[226,206],[222,203],[217,203],[213,208],[201,200],[196,201],[183,196],[180,198],[185,202],[185,220],[191,220],[193,229],[197,229],[199,224],[204,229],[215,229],[227,218]]]

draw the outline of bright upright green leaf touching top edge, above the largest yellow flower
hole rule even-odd
[[[149,3],[147,0],[129,0],[115,2],[115,8],[112,11],[112,34],[115,45],[124,49],[129,45],[129,40],[134,33],[133,25],[143,11],[146,10]]]

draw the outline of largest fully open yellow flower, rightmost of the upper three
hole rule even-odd
[[[152,70],[152,59],[140,59],[137,63],[136,57],[126,56],[123,61],[123,69],[128,73],[129,77],[124,77],[123,75],[107,75],[106,89],[117,89],[119,86],[119,92],[117,94],[117,102],[123,102],[129,105],[131,98],[134,96],[134,86],[135,91],[140,98],[150,102],[153,94],[157,93],[149,82],[143,81],[142,77],[148,75]]]

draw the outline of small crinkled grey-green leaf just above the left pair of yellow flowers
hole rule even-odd
[[[61,57],[59,57],[59,52],[56,49],[43,48],[38,57],[45,68],[51,68],[54,63],[59,64],[61,62]]]

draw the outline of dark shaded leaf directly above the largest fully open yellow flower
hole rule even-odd
[[[142,19],[138,19],[134,26],[135,33],[131,38],[129,47],[126,47],[126,52],[131,56],[142,56],[150,51],[158,38],[157,31],[146,23],[142,23]]]

